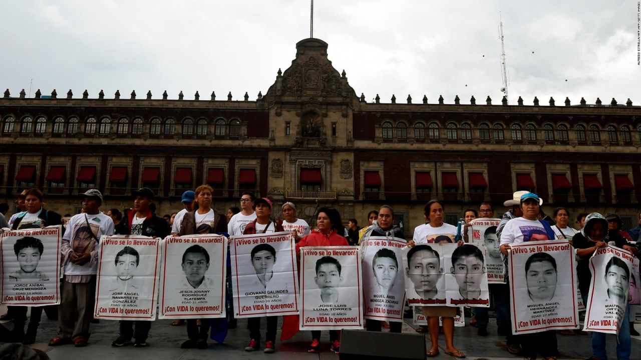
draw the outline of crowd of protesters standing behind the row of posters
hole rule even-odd
[[[176,213],[159,217],[155,214],[155,194],[149,188],[140,188],[132,192],[133,207],[124,209],[108,209],[101,207],[103,195],[99,190],[91,189],[79,194],[82,204],[81,213],[62,217],[54,211],[44,208],[44,197],[38,189],[25,190],[17,195],[15,204],[19,211],[8,220],[4,217],[8,211],[6,204],[0,204],[0,226],[10,229],[30,229],[51,225],[63,225],[63,279],[61,281],[62,301],[57,306],[31,307],[31,315],[27,318],[27,307],[10,306],[3,320],[13,320],[13,330],[0,329],[3,341],[35,342],[38,324],[44,310],[51,319],[58,320],[58,334],[49,345],[73,344],[76,347],[88,345],[90,323],[97,320],[93,317],[96,292],[97,243],[102,235],[123,234],[165,238],[165,236],[183,236],[190,234],[224,234],[237,236],[240,234],[265,234],[288,231],[296,241],[296,252],[306,246],[358,246],[370,236],[386,236],[405,240],[403,229],[394,224],[394,210],[387,205],[374,209],[367,215],[367,226],[359,227],[358,220],[351,218],[344,227],[340,214],[333,208],[320,208],[315,214],[315,223],[308,224],[296,217],[296,205],[285,202],[280,209],[272,209],[272,202],[267,198],[257,198],[254,193],[244,192],[240,197],[240,206],[227,209],[226,213],[215,211],[212,201],[213,189],[201,185],[196,190],[183,193],[181,203],[183,209]],[[503,205],[508,210],[503,213],[497,227],[489,229],[490,241],[495,241],[497,256],[503,254],[504,263],[511,245],[529,240],[568,240],[576,249],[578,258],[577,275],[578,288],[587,302],[591,279],[588,259],[595,250],[612,245],[628,250],[638,255],[638,245],[641,243],[641,213],[638,215],[639,225],[625,231],[622,220],[615,214],[581,213],[576,216],[576,228],[570,226],[570,213],[567,208],[554,208],[553,216],[545,215],[542,210],[543,201],[535,193],[515,192],[512,199]],[[5,205],[5,206],[3,206]],[[444,204],[439,200],[430,200],[424,207],[424,224],[415,227],[413,238],[406,241],[408,247],[424,243],[457,242],[462,245],[467,239],[470,221],[475,218],[495,218],[494,206],[488,202],[479,204],[478,208],[463,211],[462,220],[458,226],[445,223]],[[522,229],[540,229],[537,234],[524,234]],[[437,237],[438,234],[438,237]],[[530,236],[531,235],[531,236]],[[411,251],[411,250],[410,250]],[[490,249],[488,249],[488,252]],[[42,252],[42,251],[41,251]],[[18,255],[18,252],[16,252]],[[228,254],[229,259],[229,254]],[[208,260],[206,261],[208,263]],[[228,261],[229,263],[229,261]],[[229,265],[228,265],[229,266]],[[520,354],[525,359],[535,359],[537,353],[544,359],[556,359],[558,356],[557,331],[543,331],[534,334],[512,334],[510,323],[510,274],[505,267],[503,284],[490,284],[489,291],[496,314],[498,334],[506,336],[506,348],[512,354]],[[234,328],[237,320],[233,318],[233,302],[231,301],[231,280],[228,271],[226,281],[226,310],[228,318],[226,326]],[[620,327],[617,341],[617,358],[629,359],[631,352],[631,335],[638,335],[634,329],[635,311],[638,306],[627,306],[624,322]],[[429,332],[431,345],[427,356],[439,354],[438,338],[440,333],[445,337],[445,353],[454,357],[465,357],[454,346],[454,316],[458,307],[424,306],[420,309],[428,319],[426,327],[418,327],[418,332]],[[474,308],[472,323],[478,328],[479,336],[488,335],[489,309]],[[442,324],[439,324],[442,318]],[[27,320],[29,322],[27,323]],[[182,348],[207,348],[210,319],[187,320],[187,340]],[[265,316],[267,332],[265,334],[264,352],[276,350],[276,332],[278,316]],[[179,326],[183,320],[175,320],[171,325]],[[249,318],[249,343],[246,351],[260,350],[261,318]],[[25,325],[26,330],[25,330]],[[119,323],[119,334],[113,340],[114,347],[133,344],[134,347],[146,347],[147,337],[151,329],[149,321],[126,321]],[[383,322],[366,320],[367,331],[381,331],[388,328],[390,332],[401,332],[401,322]],[[585,332],[560,331],[567,336],[581,336]],[[592,332],[592,360],[605,360],[605,335]],[[340,331],[329,332],[330,348],[340,351]],[[309,352],[320,351],[320,331],[312,331],[312,342]]]

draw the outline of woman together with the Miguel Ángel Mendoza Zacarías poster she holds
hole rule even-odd
[[[381,320],[388,320],[390,332],[401,332],[405,302],[402,249],[405,246],[403,230],[394,226],[394,210],[389,205],[381,206],[378,220],[372,222],[360,241],[367,331],[381,331]]]

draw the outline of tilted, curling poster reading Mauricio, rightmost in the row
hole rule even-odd
[[[610,245],[590,258],[590,293],[583,330],[617,334],[626,313],[633,255]]]

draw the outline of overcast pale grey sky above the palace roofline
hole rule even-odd
[[[641,104],[636,0],[317,0],[314,10],[314,37],[368,101],[500,103],[500,12],[511,103]],[[71,88],[253,100],[289,67],[309,22],[303,0],[1,1],[0,88],[17,96],[33,79],[31,97]]]

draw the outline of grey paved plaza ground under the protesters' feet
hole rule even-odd
[[[6,308],[0,307],[0,313],[5,313]],[[117,337],[118,326],[115,321],[101,320],[99,323],[92,324],[92,335],[88,347],[75,348],[73,345],[63,345],[61,347],[49,347],[47,342],[52,338],[57,330],[56,321],[47,319],[42,315],[40,331],[38,331],[37,342],[32,347],[46,351],[54,360],[67,359],[119,359],[119,360],[160,360],[160,359],[338,359],[336,354],[329,351],[328,332],[323,332],[323,348],[320,354],[308,354],[307,347],[310,343],[309,332],[299,332],[294,338],[276,344],[277,352],[275,354],[264,354],[260,352],[245,352],[249,342],[249,331],[247,331],[247,320],[239,320],[237,329],[229,330],[228,336],[224,343],[219,344],[210,340],[210,347],[207,350],[189,349],[183,350],[180,344],[187,338],[187,329],[185,325],[173,327],[170,320],[154,321],[149,336],[149,347],[134,348],[131,346],[122,348],[113,348],[112,341]],[[263,327],[264,327],[263,322]],[[517,359],[517,356],[511,356],[504,347],[504,338],[496,334],[496,325],[494,319],[490,319],[488,331],[490,336],[481,337],[476,334],[476,327],[469,325],[469,318],[466,319],[465,327],[457,327],[454,331],[454,343],[456,347],[467,354],[468,359]],[[279,324],[280,327],[280,324]],[[641,329],[641,322],[638,323],[637,329]],[[404,323],[403,332],[415,334],[412,326]],[[264,334],[264,329],[263,329]],[[279,332],[280,334],[280,332]],[[429,344],[429,340],[427,341]],[[558,335],[560,359],[586,359],[592,355],[590,336],[563,336]],[[263,346],[263,344],[262,344]],[[390,346],[402,347],[403,344],[390,344]],[[616,339],[608,335],[608,354],[611,359],[616,357],[615,353]],[[641,359],[638,348],[641,346],[641,338],[633,337],[632,359]],[[445,341],[440,336],[441,354],[437,359],[449,359],[451,357],[444,354]]]

